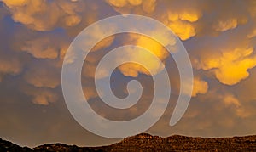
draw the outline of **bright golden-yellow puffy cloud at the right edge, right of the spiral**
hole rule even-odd
[[[256,56],[253,48],[235,48],[224,51],[216,57],[201,59],[199,69],[212,70],[216,78],[227,85],[234,85],[247,78],[247,70],[256,66]]]

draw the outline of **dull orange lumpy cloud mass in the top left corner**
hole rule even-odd
[[[82,20],[79,12],[82,2],[45,0],[3,0],[15,21],[37,31],[49,31],[57,26],[70,27]]]

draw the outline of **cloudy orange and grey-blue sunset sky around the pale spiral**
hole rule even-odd
[[[168,122],[180,89],[177,65],[160,43],[123,33],[97,43],[84,61],[82,86],[93,110],[119,121],[147,110],[154,84],[142,66],[120,65],[111,77],[113,93],[119,98],[127,96],[127,82],[141,82],[142,98],[128,110],[113,111],[101,103],[95,89],[96,66],[104,54],[133,44],[148,48],[165,63],[172,86],[165,114],[148,132],[163,137],[256,133],[254,0],[0,0],[0,138],[30,147],[55,142],[85,146],[119,141],[79,126],[61,91],[62,62],[74,37],[97,20],[118,14],[151,17],[177,35],[194,71],[192,98],[183,118],[170,127]],[[108,30],[97,29],[90,37],[101,37]],[[158,61],[136,50],[127,58],[145,59],[150,70],[160,68]]]

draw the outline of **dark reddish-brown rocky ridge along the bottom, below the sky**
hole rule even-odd
[[[160,138],[143,133],[102,147],[44,144],[33,149],[0,138],[0,151],[256,151],[256,136],[234,138],[191,138],[174,135]]]

